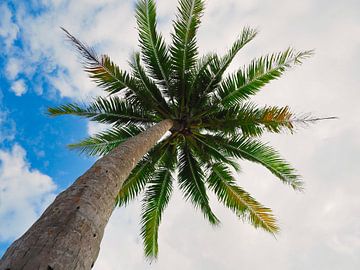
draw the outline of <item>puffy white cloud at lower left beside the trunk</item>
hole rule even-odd
[[[15,144],[0,150],[0,241],[19,237],[54,199],[52,179],[32,169]]]

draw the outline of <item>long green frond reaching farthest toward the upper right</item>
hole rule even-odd
[[[301,64],[312,54],[313,51],[295,52],[289,48],[284,52],[254,59],[248,67],[230,75],[221,84],[217,92],[221,105],[229,108],[247,99],[270,81],[278,79],[293,65]]]

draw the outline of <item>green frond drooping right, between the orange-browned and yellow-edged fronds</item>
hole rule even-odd
[[[279,178],[284,184],[290,185],[295,190],[302,190],[303,183],[294,168],[291,167],[279,153],[272,147],[243,136],[231,139],[220,136],[206,135],[206,139],[218,144],[229,155],[259,163]]]

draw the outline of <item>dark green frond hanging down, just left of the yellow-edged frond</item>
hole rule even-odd
[[[199,207],[211,224],[219,224],[218,218],[210,208],[204,185],[204,172],[186,143],[180,154],[178,178],[180,190],[185,198],[190,199],[196,208]]]

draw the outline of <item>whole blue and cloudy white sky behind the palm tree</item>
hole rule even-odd
[[[170,42],[177,1],[156,2],[159,30]],[[134,5],[132,0],[0,0],[0,255],[94,162],[66,145],[104,128],[45,114],[49,106],[103,94],[83,72],[60,26],[127,69],[138,50]],[[359,269],[360,2],[208,0],[202,21],[201,54],[223,53],[243,26],[259,29],[231,71],[288,46],[315,49],[311,59],[253,101],[338,119],[263,138],[301,173],[303,193],[241,162],[238,183],[273,209],[281,227],[276,238],[241,222],[215,200],[222,225],[213,228],[176,191],[160,226],[156,262],[144,259],[135,200],[114,211],[94,269]]]

